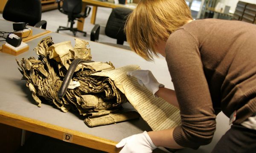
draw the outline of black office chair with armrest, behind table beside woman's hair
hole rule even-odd
[[[122,8],[122,7],[113,8],[105,28],[105,34],[108,37],[116,39],[117,45],[113,45],[113,46],[123,48],[122,45],[124,41],[126,41],[124,26],[125,26],[127,17],[129,14],[131,14],[131,12],[132,10],[129,8]],[[93,27],[90,35],[91,41],[99,40],[99,29],[100,29],[100,26],[98,24],[96,24]],[[111,45],[111,44],[108,43],[108,45]]]

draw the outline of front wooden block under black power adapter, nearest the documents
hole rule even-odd
[[[27,45],[24,42],[21,42],[19,47],[13,47],[9,45],[8,43],[4,44],[2,46],[2,52],[6,54],[11,54],[11,55],[19,55],[21,53],[24,53],[25,51],[29,50],[29,45]]]

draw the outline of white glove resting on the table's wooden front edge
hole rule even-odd
[[[122,139],[116,147],[123,147],[119,153],[152,153],[152,150],[157,148],[147,131]]]

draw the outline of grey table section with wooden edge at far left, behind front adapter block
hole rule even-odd
[[[5,32],[12,32],[13,28],[12,28],[12,23],[11,21],[7,21],[7,20],[0,20],[0,31],[5,31]],[[27,42],[29,40],[35,39],[37,37],[43,36],[44,34],[48,34],[51,31],[49,30],[45,30],[42,28],[36,28],[33,26],[27,26],[27,28],[31,28],[32,30],[32,36],[23,38],[22,41],[23,42]],[[2,39],[1,39],[2,40]],[[5,44],[6,41],[0,41],[0,51],[2,50],[2,45]]]

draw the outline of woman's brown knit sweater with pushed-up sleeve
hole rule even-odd
[[[236,110],[234,124],[256,112],[256,25],[192,21],[170,35],[166,61],[182,119],[173,136],[181,146],[211,142],[220,111],[230,117]]]

